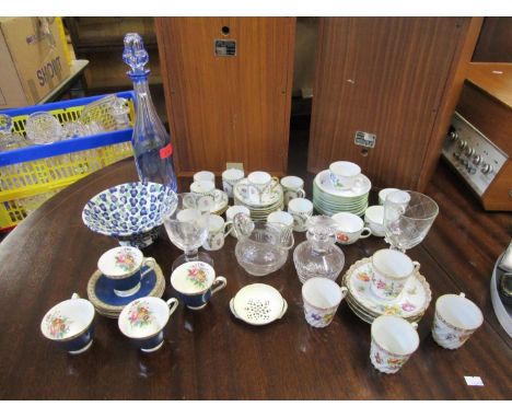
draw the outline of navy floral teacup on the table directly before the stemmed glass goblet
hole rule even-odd
[[[171,285],[188,309],[205,307],[211,295],[225,288],[224,277],[216,278],[213,267],[203,262],[189,262],[178,266],[171,275]]]

